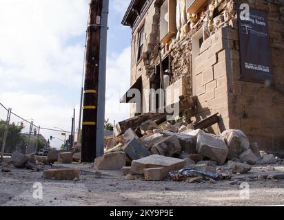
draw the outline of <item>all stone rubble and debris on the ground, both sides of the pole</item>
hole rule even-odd
[[[146,115],[147,116],[147,115]],[[221,179],[282,179],[284,173],[276,170],[283,159],[259,151],[257,143],[250,143],[240,130],[227,130],[221,135],[205,133],[201,128],[215,123],[216,115],[197,124],[164,122],[158,125],[148,115],[144,120],[120,122],[116,136],[105,137],[105,155],[94,161],[97,170],[121,170],[123,179],[146,181],[186,181],[188,183],[216,184]],[[131,127],[127,127],[132,124]],[[123,133],[123,131],[125,131]],[[23,155],[14,152],[9,161],[1,163],[2,173],[11,173],[11,166],[43,171],[45,179],[80,179],[78,169],[53,168],[56,164],[80,164],[81,146],[72,152],[50,151],[47,156]],[[254,166],[263,166],[264,173],[255,173]],[[88,171],[87,171],[88,172]]]

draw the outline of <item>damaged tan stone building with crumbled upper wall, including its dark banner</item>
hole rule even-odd
[[[158,109],[147,91],[164,88],[165,105],[196,97],[192,121],[219,113],[211,133],[241,129],[284,155],[284,1],[132,0],[122,23],[132,29],[131,89],[142,94],[131,117]]]

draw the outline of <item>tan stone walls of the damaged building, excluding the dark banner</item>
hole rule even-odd
[[[176,36],[163,43],[161,50],[165,63],[169,63],[166,104],[178,101],[180,96],[196,96],[197,109],[191,113],[193,121],[219,113],[221,122],[212,126],[210,132],[242,129],[261,149],[284,154],[284,96],[281,93],[284,87],[284,1],[204,1],[198,13],[187,13],[186,18],[183,8],[187,7],[187,0],[174,1],[180,5],[176,10]],[[164,1],[148,2],[145,12],[131,24],[131,83],[134,85],[142,77],[143,89],[155,88],[153,82],[159,72],[161,5]],[[199,7],[197,3],[193,3],[195,8]],[[267,12],[274,87],[241,80],[236,3],[247,3],[250,8]],[[142,28],[143,53],[137,60]],[[143,112],[150,111],[150,99],[144,91]],[[131,116],[135,111],[136,104],[132,104]]]

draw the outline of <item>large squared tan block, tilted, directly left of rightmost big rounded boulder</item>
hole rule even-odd
[[[205,157],[208,157],[220,165],[227,159],[228,148],[225,141],[217,136],[207,133],[201,133],[197,138],[196,151]]]

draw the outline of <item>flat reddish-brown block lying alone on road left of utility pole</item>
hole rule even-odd
[[[43,171],[43,179],[73,180],[79,179],[80,173],[76,169],[58,169]]]

